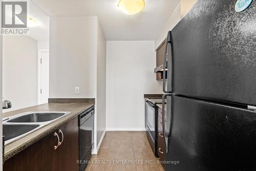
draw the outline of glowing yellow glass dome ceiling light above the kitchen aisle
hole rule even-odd
[[[119,0],[118,7],[123,13],[134,15],[139,13],[145,7],[144,0]]]

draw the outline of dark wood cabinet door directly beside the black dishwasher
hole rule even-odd
[[[60,131],[62,132],[60,132]],[[63,136],[62,136],[63,134]],[[57,151],[57,170],[78,170],[79,164],[79,132],[78,117],[63,124],[58,129],[60,142]]]

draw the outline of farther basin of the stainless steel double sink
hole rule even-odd
[[[31,113],[8,120],[12,123],[31,123],[31,122],[47,122],[61,116],[65,113]]]

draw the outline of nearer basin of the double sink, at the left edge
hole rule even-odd
[[[5,141],[36,129],[39,124],[3,124],[3,135]]]

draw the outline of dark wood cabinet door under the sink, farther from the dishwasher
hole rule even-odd
[[[56,170],[57,137],[54,132],[5,161],[4,170]]]

